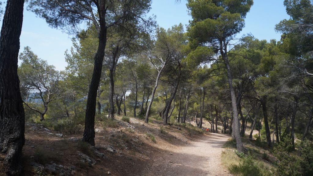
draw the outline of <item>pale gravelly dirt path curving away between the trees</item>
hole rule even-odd
[[[223,144],[229,136],[208,133],[184,147],[166,148],[168,154],[153,157],[141,175],[220,176],[230,175],[220,161]]]

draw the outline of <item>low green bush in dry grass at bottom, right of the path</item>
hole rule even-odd
[[[239,165],[231,165],[229,172],[242,176],[262,176],[260,168],[254,163],[251,157],[243,158]]]

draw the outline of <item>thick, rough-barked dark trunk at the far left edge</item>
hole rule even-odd
[[[25,114],[18,79],[24,0],[8,0],[0,34],[0,153],[7,175],[22,170]]]

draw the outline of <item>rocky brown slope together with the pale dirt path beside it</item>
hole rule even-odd
[[[206,128],[207,122],[204,122]],[[162,127],[161,127],[162,126]],[[160,130],[163,128],[163,130]],[[152,139],[151,135],[155,138]],[[81,134],[64,135],[27,124],[23,174],[59,176],[228,175],[220,154],[228,135],[200,133],[183,126],[163,127],[131,118],[115,128],[97,126],[95,147]]]

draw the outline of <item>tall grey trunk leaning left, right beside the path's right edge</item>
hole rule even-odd
[[[223,48],[223,43],[224,43],[224,48]],[[243,152],[244,151],[244,145],[241,142],[240,138],[240,132],[239,132],[239,119],[238,119],[238,108],[237,108],[237,100],[236,100],[236,95],[235,91],[233,88],[233,78],[230,70],[230,65],[229,61],[227,58],[227,45],[225,41],[220,41],[220,52],[222,55],[222,58],[224,60],[224,63],[226,65],[226,70],[227,70],[227,80],[228,80],[228,86],[229,86],[229,91],[230,91],[230,96],[232,100],[232,108],[233,108],[233,137],[236,139],[236,144],[237,144],[237,150],[238,152]]]

